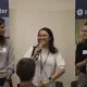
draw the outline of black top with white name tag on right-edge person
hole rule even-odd
[[[75,64],[87,59],[87,40],[80,42],[76,47]],[[79,72],[86,74],[86,64],[79,69]]]

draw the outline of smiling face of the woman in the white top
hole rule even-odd
[[[38,34],[38,42],[40,45],[47,46],[49,45],[49,40],[50,40],[49,34],[46,30],[40,30]]]

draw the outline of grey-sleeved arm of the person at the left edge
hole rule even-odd
[[[5,79],[5,83],[4,83],[3,87],[10,87],[9,82],[11,80],[12,73],[14,72],[14,55],[13,55],[13,49],[12,49],[11,45],[9,45],[7,60],[8,60],[7,79]]]

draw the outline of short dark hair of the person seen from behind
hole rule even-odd
[[[16,74],[21,82],[30,82],[35,75],[35,61],[29,58],[23,58],[16,65]]]

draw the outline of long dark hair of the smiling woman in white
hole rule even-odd
[[[49,34],[49,37],[50,37],[50,40],[49,40],[49,51],[50,51],[51,53],[58,52],[58,49],[57,49],[57,48],[54,47],[54,45],[53,45],[54,38],[53,38],[53,34],[52,34],[51,29],[48,28],[48,27],[44,27],[44,28],[41,28],[40,30],[46,30],[46,32]],[[40,30],[38,32],[38,36],[39,36]]]

